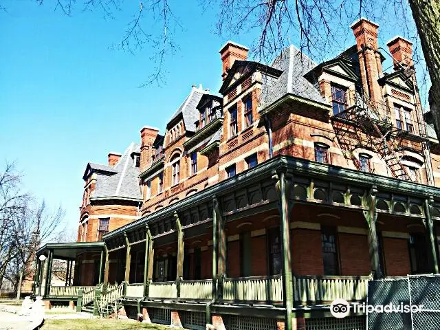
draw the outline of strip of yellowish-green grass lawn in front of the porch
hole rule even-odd
[[[162,325],[148,325],[133,320],[107,319],[74,319],[74,320],[45,320],[42,330],[129,330],[129,329],[169,329]]]

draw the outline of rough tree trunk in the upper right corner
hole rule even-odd
[[[429,105],[440,137],[440,1],[409,0],[409,3],[431,78]]]

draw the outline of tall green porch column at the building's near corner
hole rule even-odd
[[[286,308],[286,327],[292,330],[292,258],[290,256],[290,228],[289,228],[289,202],[287,201],[287,193],[290,189],[290,180],[286,180],[285,170],[278,170],[276,173],[276,190],[279,194],[279,208],[281,218],[281,235],[283,241],[283,303]],[[287,181],[287,182],[286,182]],[[287,183],[287,184],[286,184]],[[288,185],[288,187],[286,187]]]

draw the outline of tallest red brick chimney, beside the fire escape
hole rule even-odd
[[[382,56],[377,51],[378,28],[379,25],[364,18],[351,25],[358,46],[362,86],[371,100],[381,102],[382,89],[377,83],[382,77]]]

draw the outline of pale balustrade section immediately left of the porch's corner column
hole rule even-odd
[[[270,304],[282,302],[283,278],[281,275],[224,278],[223,300]]]

